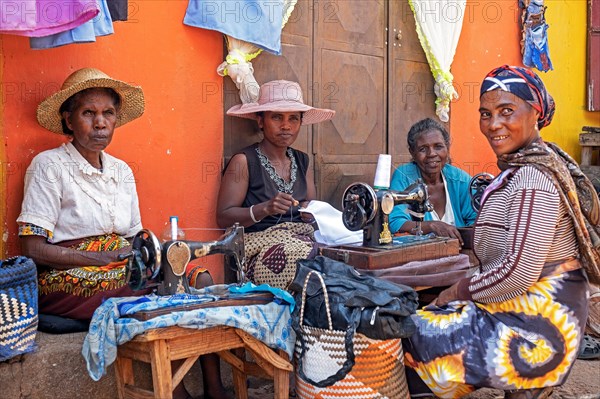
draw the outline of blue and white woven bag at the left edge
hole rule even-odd
[[[33,351],[37,325],[35,264],[23,256],[0,261],[0,362]]]

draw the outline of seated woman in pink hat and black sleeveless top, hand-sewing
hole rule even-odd
[[[261,86],[257,103],[236,105],[227,114],[256,120],[264,138],[227,165],[217,221],[222,227],[236,222],[245,227],[251,280],[286,288],[296,260],[316,253],[312,217],[299,212],[316,198],[314,176],[308,155],[291,146],[301,125],[329,120],[335,111],[304,104],[298,83],[275,80]]]

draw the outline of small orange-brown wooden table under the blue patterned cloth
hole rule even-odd
[[[256,363],[246,361],[248,351]],[[116,376],[119,398],[172,399],[173,389],[183,380],[198,357],[216,353],[233,370],[236,397],[248,399],[248,375],[274,381],[275,399],[289,396],[289,373],[293,370],[284,351],[274,351],[245,331],[218,326],[202,330],[167,327],[147,331],[120,345],[117,352]],[[133,361],[152,367],[153,391],[135,385]],[[173,360],[183,360],[171,369]]]

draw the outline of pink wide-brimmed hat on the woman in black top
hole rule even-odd
[[[335,111],[331,109],[314,108],[304,104],[300,85],[288,80],[265,83],[260,87],[258,102],[234,105],[227,111],[227,115],[256,120],[256,113],[263,111],[303,112],[303,125],[323,122],[335,115]]]

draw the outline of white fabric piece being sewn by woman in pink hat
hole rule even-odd
[[[319,225],[319,230],[315,231],[315,240],[318,243],[341,245],[362,242],[362,230],[348,230],[342,221],[342,212],[327,202],[313,200],[299,211],[310,213],[315,218]]]

